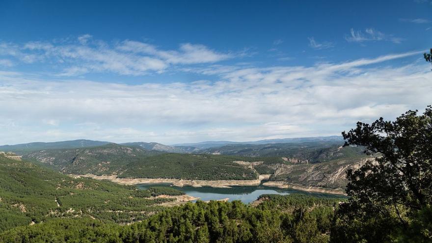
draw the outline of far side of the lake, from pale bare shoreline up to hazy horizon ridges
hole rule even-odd
[[[76,178],[123,185],[227,188],[258,186],[264,180],[267,187],[335,194],[344,193],[348,169],[373,160],[361,147],[342,147],[336,136],[282,141],[285,143],[207,142],[201,148],[187,145],[193,153],[172,153],[177,146],[137,142],[81,147],[84,142],[76,140],[49,144],[47,149],[23,153],[22,158]],[[70,148],[74,143],[76,147]],[[218,147],[207,147],[210,145]],[[15,145],[21,153],[22,147],[31,146]]]

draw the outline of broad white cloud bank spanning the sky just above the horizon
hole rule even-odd
[[[14,124],[1,130],[0,144],[73,138],[177,143],[337,135],[358,120],[391,119],[431,102],[427,63],[370,66],[417,54],[312,67],[210,65],[189,72],[216,75],[217,81],[189,83],[46,81],[0,72],[0,121],[4,126]]]

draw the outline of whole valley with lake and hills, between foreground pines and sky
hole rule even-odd
[[[51,223],[73,223],[81,230],[87,220],[120,232],[127,228],[119,226],[146,224],[170,208],[189,210],[189,202],[238,207],[241,201],[252,212],[273,200],[277,205],[345,201],[347,169],[372,158],[360,147],[323,139],[183,146],[189,152],[181,153],[159,143],[100,145],[91,140],[7,146],[12,151],[0,153],[0,229],[7,233],[0,239],[26,225],[42,230]],[[332,212],[329,205],[324,208]]]

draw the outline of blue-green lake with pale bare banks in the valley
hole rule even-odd
[[[199,197],[200,200],[221,200],[229,198],[228,201],[241,200],[243,203],[250,203],[255,201],[262,194],[279,194],[288,195],[292,193],[301,193],[306,195],[313,195],[317,197],[330,197],[330,198],[346,198],[341,195],[325,194],[325,193],[313,193],[294,189],[277,189],[266,187],[263,185],[259,186],[247,186],[247,187],[231,187],[231,188],[212,188],[212,187],[175,187],[169,184],[141,184],[138,185],[139,189],[148,189],[150,187],[171,187],[174,189],[181,190],[188,195]]]

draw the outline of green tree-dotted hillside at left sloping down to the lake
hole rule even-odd
[[[108,181],[71,178],[54,170],[0,155],[0,231],[53,218],[87,217],[127,223],[160,211],[181,195],[174,189],[137,190]]]

